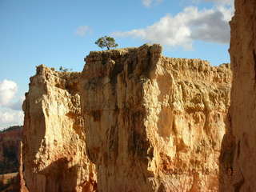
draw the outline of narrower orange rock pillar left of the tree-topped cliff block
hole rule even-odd
[[[23,178],[30,192],[94,191],[86,156],[79,73],[38,66],[23,103]]]

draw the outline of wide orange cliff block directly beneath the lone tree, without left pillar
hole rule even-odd
[[[161,52],[144,45],[86,58],[81,105],[98,191],[218,191],[230,66]]]

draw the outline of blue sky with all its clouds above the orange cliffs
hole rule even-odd
[[[22,122],[22,96],[35,66],[81,71],[94,42],[158,43],[164,55],[230,62],[232,0],[1,0],[0,128]]]

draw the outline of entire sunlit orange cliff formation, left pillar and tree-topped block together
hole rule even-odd
[[[230,66],[159,45],[91,52],[81,73],[38,66],[25,111],[30,192],[218,191]]]

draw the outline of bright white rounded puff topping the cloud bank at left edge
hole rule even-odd
[[[8,106],[17,93],[17,90],[18,86],[16,82],[7,79],[0,82],[0,106]]]

